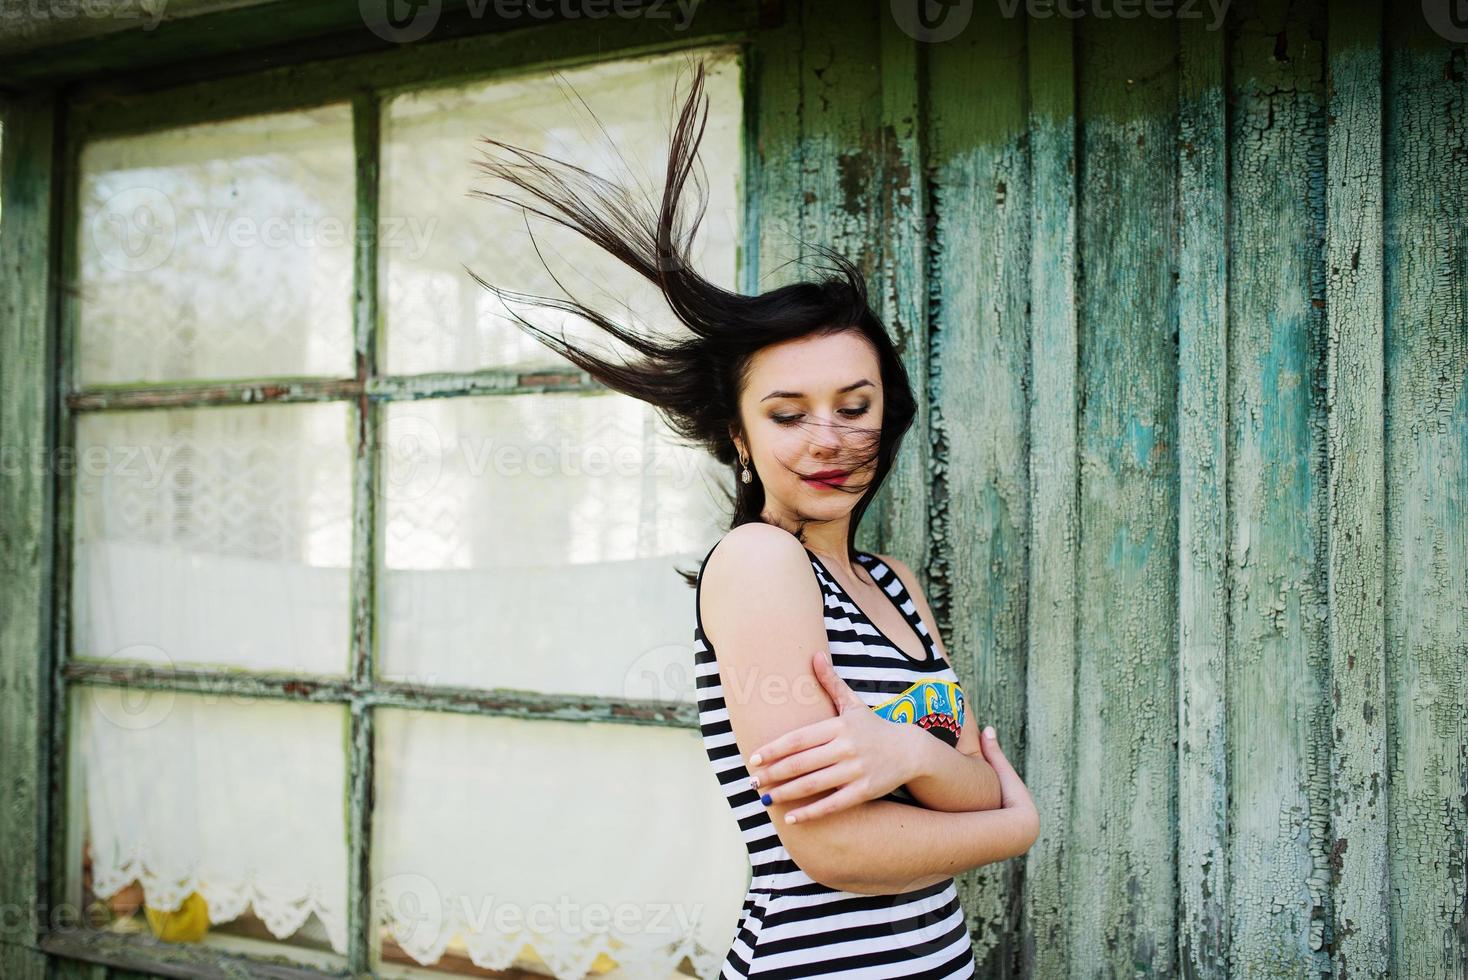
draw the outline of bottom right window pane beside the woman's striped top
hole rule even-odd
[[[392,709],[376,719],[383,976],[716,973],[749,867],[697,731]]]

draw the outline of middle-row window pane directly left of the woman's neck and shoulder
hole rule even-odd
[[[730,475],[617,393],[388,406],[382,673],[693,701],[675,574],[728,525]]]

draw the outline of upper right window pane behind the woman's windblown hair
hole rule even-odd
[[[706,57],[709,69],[709,117],[699,151],[708,178],[708,211],[691,260],[703,276],[734,289],[741,223],[740,63],[734,50],[694,54]],[[596,246],[540,219],[530,222],[533,242],[518,210],[467,194],[471,186],[508,192],[508,185],[487,180],[473,166],[482,158],[477,139],[492,136],[567,160],[628,189],[642,186],[652,207],[662,194],[674,85],[687,57],[678,53],[559,72],[586,98],[606,134],[548,73],[411,92],[388,104],[379,251],[385,371],[567,367],[564,358],[515,326],[493,293],[464,271],[468,266],[515,292],[561,296],[534,242],[578,299],[622,321],[672,327],[658,289]],[[686,192],[691,201],[693,188]],[[514,195],[526,200],[523,191]],[[564,327],[570,337],[596,336],[596,327],[558,311],[517,310],[552,333]]]

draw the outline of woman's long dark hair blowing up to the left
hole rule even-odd
[[[559,337],[552,336],[524,320],[505,302],[515,321],[537,340],[602,384],[647,402],[681,439],[703,447],[735,471],[740,468],[740,459],[731,433],[743,433],[738,398],[755,352],[782,340],[846,330],[866,337],[876,351],[881,365],[881,427],[876,433],[860,430],[871,437],[846,440],[849,445],[837,456],[843,469],[860,469],[873,461],[876,464],[871,480],[840,487],[860,494],[847,531],[847,553],[854,560],[857,524],[891,471],[901,439],[916,417],[918,405],[912,383],[882,321],[868,302],[862,271],[834,249],[803,242],[812,252],[829,261],[824,274],[755,296],[728,292],[693,270],[688,255],[708,207],[705,182],[694,169],[709,111],[703,81],[705,65],[700,60],[691,73],[688,94],[672,129],[662,202],[655,211],[614,182],[490,136],[480,136],[479,142],[489,150],[482,150],[483,158],[474,161],[474,166],[490,178],[506,180],[528,192],[533,200],[524,202],[482,189],[470,192],[471,197],[501,201],[568,227],[600,246],[662,290],[674,315],[688,329],[687,336],[661,337],[636,333],[575,301],[570,293],[565,299],[517,293],[484,282],[467,267],[465,271],[502,302],[512,298],[571,312],[630,346],[637,354],[633,359],[621,362],[606,359],[571,343],[564,333]],[[495,156],[492,151],[501,151],[504,156]],[[691,223],[684,229],[680,205],[690,176],[697,191],[697,208]],[[536,251],[539,255],[539,246]],[[545,264],[543,255],[540,261]],[[549,266],[546,271],[550,271]],[[565,288],[555,273],[550,273],[550,277],[564,292]],[[859,428],[844,423],[838,425]],[[750,468],[753,471],[753,467]],[[750,483],[735,478],[734,487],[734,516],[730,528],[763,521],[763,481],[757,475]],[[785,530],[804,540],[804,525],[810,521],[813,518],[802,515],[796,521],[796,528]],[[693,585],[697,569],[680,571],[680,575]]]

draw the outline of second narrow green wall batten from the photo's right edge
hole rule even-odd
[[[1177,964],[1229,976],[1227,35],[1177,29]]]

